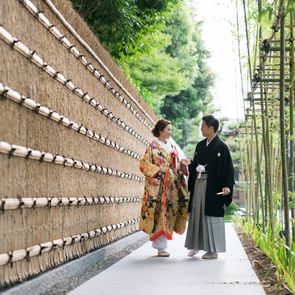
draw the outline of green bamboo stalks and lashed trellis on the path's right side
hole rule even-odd
[[[252,77],[245,1],[243,1],[243,5],[248,45],[248,70],[250,77]],[[281,0],[277,19],[275,25],[272,27],[273,33],[269,39],[263,40],[262,21],[259,23],[259,40],[261,44],[258,48],[261,52],[259,55],[261,61],[258,65],[259,68],[254,69],[258,72],[251,78],[251,83],[253,82],[253,85],[250,86],[251,91],[248,92],[247,99],[243,99],[244,102],[248,101],[250,106],[246,108],[245,121],[239,123],[237,132],[240,141],[246,142],[244,155],[247,187],[248,182],[252,182],[252,184],[249,185],[250,188],[245,190],[247,192],[245,205],[248,221],[253,221],[254,226],[256,223],[262,222],[264,231],[266,229],[266,224],[269,222],[272,235],[274,236],[276,222],[274,214],[277,214],[279,210],[284,208],[284,218],[283,216],[280,217],[281,221],[284,221],[284,228],[282,228],[282,232],[284,230],[284,233],[282,235],[285,236],[286,245],[290,247],[289,201],[290,196],[294,195],[295,168],[293,78],[295,58],[293,12],[290,13],[290,25],[288,24],[288,26],[285,26],[285,6],[284,0]],[[257,8],[258,12],[262,11],[262,0],[259,1]],[[237,26],[239,26],[238,23]],[[290,32],[290,38],[286,38],[286,30]],[[280,31],[280,39],[273,40],[278,31]],[[287,46],[286,42],[290,42],[291,46]],[[272,46],[270,45],[271,43],[279,44]],[[277,52],[279,52],[279,54],[277,54]],[[256,65],[256,54],[254,59],[254,65]],[[268,61],[268,64],[266,64],[266,61]],[[278,61],[280,63],[277,63]],[[279,68],[275,68],[276,66],[279,66]],[[256,91],[256,89],[259,88],[260,91]],[[259,98],[254,97],[254,94],[259,95]],[[285,117],[290,118],[290,120],[287,121],[287,126]],[[252,124],[250,123],[251,119]],[[261,122],[261,126],[258,126],[257,120]],[[250,124],[252,129],[249,134],[248,129]],[[245,133],[245,136],[241,136],[243,133]],[[261,149],[259,148],[259,142],[261,142],[262,145]],[[262,152],[264,155],[263,157]],[[240,153],[242,153],[242,150]],[[256,160],[253,156],[254,153],[256,153]],[[255,163],[257,169],[255,169]],[[261,170],[261,165],[264,167],[264,171]],[[242,167],[242,169],[244,168]],[[257,193],[255,193],[253,189],[255,182],[250,178],[255,172],[258,179]],[[264,185],[264,188],[262,185]],[[256,196],[256,198],[254,198],[254,196]],[[282,202],[280,204],[274,204],[274,198],[276,196],[282,196]],[[254,202],[255,206],[253,206],[251,202]],[[256,216],[255,208],[260,208],[260,211],[264,212],[264,214],[262,214],[263,220],[256,220],[256,218],[259,218],[259,214]],[[291,214],[293,226],[292,239],[295,241],[294,207],[291,208]]]

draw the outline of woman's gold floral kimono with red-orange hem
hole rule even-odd
[[[140,171],[146,177],[146,187],[139,228],[149,234],[151,241],[163,234],[171,240],[173,232],[182,235],[185,231],[188,189],[183,172],[176,167],[177,149],[172,148],[170,155],[153,141],[140,161]],[[166,167],[166,174],[159,172]]]

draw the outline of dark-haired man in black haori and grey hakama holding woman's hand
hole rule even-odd
[[[188,166],[188,228],[185,247],[188,256],[200,250],[202,258],[217,258],[225,252],[224,205],[232,203],[234,168],[227,145],[217,131],[219,120],[213,115],[204,116],[202,135],[193,160],[182,159],[180,167]]]

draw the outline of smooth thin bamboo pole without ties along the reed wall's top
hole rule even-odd
[[[28,0],[22,0],[21,2],[26,2]],[[74,35],[74,37],[89,51],[89,53],[96,59],[100,65],[105,69],[105,71],[112,77],[112,79],[118,84],[118,86],[128,95],[128,97],[139,107],[139,109],[149,118],[149,120],[155,124],[152,118],[147,114],[147,112],[141,107],[141,105],[137,102],[135,98],[121,85],[121,83],[115,78],[115,76],[111,73],[111,71],[106,67],[106,65],[98,58],[98,56],[94,53],[94,51],[90,48],[90,46],[78,35],[78,33],[72,28],[72,26],[65,20],[65,18],[61,15],[58,9],[52,4],[50,0],[44,0],[46,4],[50,7],[50,9],[56,14],[59,20],[63,23],[63,25]]]

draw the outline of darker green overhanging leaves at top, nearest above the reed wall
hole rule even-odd
[[[179,0],[71,0],[114,58],[147,52]]]

